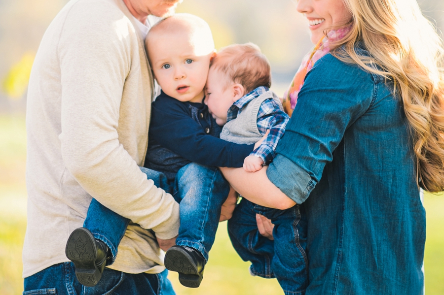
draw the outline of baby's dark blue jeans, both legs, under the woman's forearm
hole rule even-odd
[[[274,241],[259,233],[256,214],[274,224]],[[286,295],[304,294],[308,286],[308,262],[305,253],[307,220],[303,207],[295,205],[278,210],[243,198],[228,220],[228,234],[242,260],[252,263],[252,274],[276,277]]]

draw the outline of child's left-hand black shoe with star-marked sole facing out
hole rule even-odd
[[[96,240],[85,228],[74,229],[65,248],[66,257],[74,262],[75,276],[86,287],[95,286],[107,262],[107,245]]]

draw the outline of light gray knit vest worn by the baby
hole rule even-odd
[[[238,144],[253,144],[262,138],[263,134],[258,129],[258,112],[262,102],[268,98],[273,98],[279,104],[279,108],[284,110],[276,94],[267,91],[244,105],[237,117],[223,126],[221,139]]]

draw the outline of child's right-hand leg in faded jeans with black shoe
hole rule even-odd
[[[175,197],[181,199],[181,226],[176,246],[165,254],[165,267],[179,272],[179,281],[196,288],[218,229],[229,185],[216,167],[190,163],[176,176]]]

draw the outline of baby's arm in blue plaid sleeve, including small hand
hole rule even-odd
[[[263,142],[244,160],[244,169],[255,172],[262,165],[269,164],[275,157],[275,149],[279,139],[284,135],[285,126],[290,118],[279,108],[279,104],[273,99],[267,99],[260,105],[258,113],[258,129],[261,134],[269,130],[269,134]],[[258,158],[261,161],[258,161]]]

